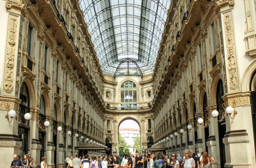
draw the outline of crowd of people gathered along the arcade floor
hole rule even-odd
[[[13,155],[11,168],[32,168],[34,159],[30,154],[25,154],[23,161],[19,155]],[[191,150],[184,151],[184,157],[173,153],[171,156],[162,152],[152,153],[151,155],[140,156],[136,151],[136,156],[92,156],[88,155],[73,156],[65,158],[67,168],[210,168],[213,157],[209,157],[207,152],[199,151],[192,153]],[[39,168],[47,168],[46,157],[42,157]]]

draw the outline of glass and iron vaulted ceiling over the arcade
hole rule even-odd
[[[79,0],[105,74],[153,72],[170,0]]]

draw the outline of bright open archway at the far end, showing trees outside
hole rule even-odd
[[[118,125],[118,149],[113,154],[130,155],[141,151],[140,125],[138,121],[131,118],[123,119]]]

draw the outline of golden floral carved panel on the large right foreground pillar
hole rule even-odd
[[[234,34],[233,34],[233,23],[230,13],[224,17],[225,23],[225,38],[226,38],[226,49],[227,49],[227,65],[229,75],[229,88],[230,90],[238,89],[238,72],[237,72],[237,58],[236,50],[234,49]]]

